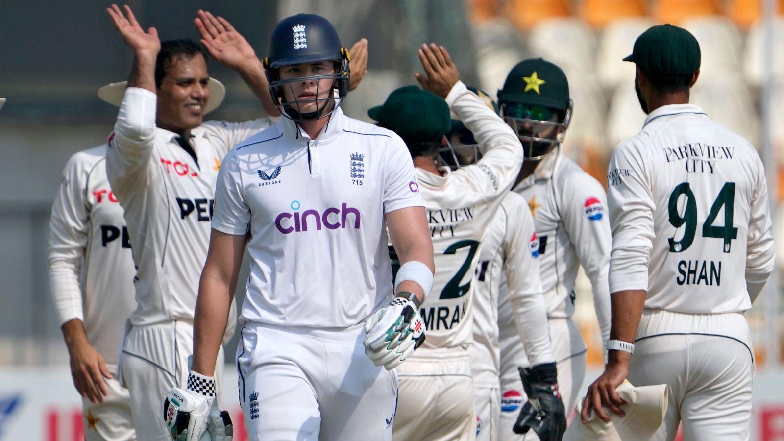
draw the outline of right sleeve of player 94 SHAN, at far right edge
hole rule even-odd
[[[749,234],[746,238],[746,290],[753,303],[773,272],[775,248],[771,228],[768,182],[759,157],[755,157],[756,176],[751,199]]]

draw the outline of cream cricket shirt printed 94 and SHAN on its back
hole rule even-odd
[[[693,104],[657,108],[615,148],[608,199],[612,293],[647,290],[645,308],[671,312],[751,307],[746,281],[767,280],[775,256],[768,185],[749,141]]]

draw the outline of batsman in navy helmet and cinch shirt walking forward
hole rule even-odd
[[[298,14],[274,28],[264,65],[285,118],[220,169],[194,363],[187,389],[169,394],[191,410],[188,439],[222,424],[200,392],[214,387],[246,246],[237,366],[249,438],[391,439],[391,369],[424,339],[416,305],[433,283],[433,249],[403,141],[338,107],[348,56],[324,17]],[[387,228],[403,262],[395,286]]]

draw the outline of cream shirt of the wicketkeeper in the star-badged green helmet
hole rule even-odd
[[[547,314],[554,319],[572,317],[575,279],[579,265],[583,265],[593,287],[593,304],[601,333],[607,340],[610,336],[607,275],[612,239],[604,188],[572,159],[556,150],[539,162],[534,173],[521,180],[514,191],[528,201],[534,216]],[[511,325],[509,320],[505,323]]]

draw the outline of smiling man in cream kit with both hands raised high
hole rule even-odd
[[[139,439],[163,440],[170,435],[161,403],[187,380],[218,169],[230,148],[270,122],[203,122],[205,112],[220,104],[212,93],[223,90],[209,78],[205,49],[189,40],[160,42],[127,6],[125,13],[116,5],[108,12],[134,53],[106,155],[109,183],[136,244],[137,306],[118,374],[130,392]],[[238,71],[260,96],[267,93],[261,62],[241,35],[209,13],[200,12],[196,24],[216,60]],[[216,26],[223,32],[211,34],[208,27]]]

